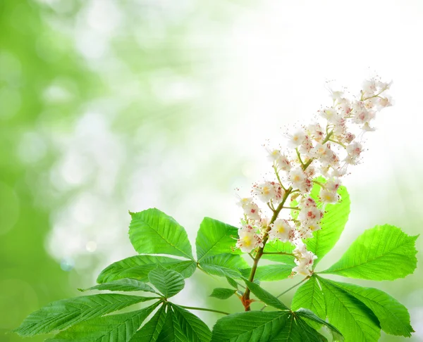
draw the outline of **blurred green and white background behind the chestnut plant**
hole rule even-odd
[[[345,181],[350,222],[321,269],[374,224],[419,234],[422,14],[419,1],[0,0],[0,341],[134,254],[128,209],[156,206],[192,241],[204,216],[236,225],[233,189],[266,171],[265,139],[325,103],[327,78],[357,89],[376,69],[397,103]],[[405,304],[423,341],[422,279],[357,284]],[[178,300],[239,308],[207,298],[219,284],[196,274]]]

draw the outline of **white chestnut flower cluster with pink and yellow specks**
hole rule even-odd
[[[332,106],[321,108],[315,122],[286,134],[286,151],[267,148],[274,179],[254,184],[252,196],[240,198],[244,217],[236,246],[241,251],[257,258],[266,242],[289,241],[295,246],[292,276],[312,274],[317,256],[307,251],[303,240],[321,229],[324,205],[341,200],[341,178],[350,165],[360,163],[364,132],[373,131],[376,113],[391,106],[391,96],[385,94],[389,87],[391,83],[372,78],[352,99],[342,91],[330,89]],[[316,203],[309,193],[318,176],[326,181],[319,182],[320,201]],[[293,201],[298,205],[287,204]]]

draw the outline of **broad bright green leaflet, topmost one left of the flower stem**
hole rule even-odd
[[[192,259],[185,229],[160,210],[147,209],[130,213],[129,238],[140,254],[171,254]]]

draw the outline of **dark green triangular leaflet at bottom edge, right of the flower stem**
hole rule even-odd
[[[271,342],[327,342],[327,339],[298,317],[296,312],[290,312],[285,326]]]

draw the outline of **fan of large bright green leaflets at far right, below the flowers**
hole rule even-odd
[[[321,273],[372,280],[405,277],[416,267],[416,239],[397,227],[376,226],[359,236],[341,260]],[[413,332],[407,309],[387,293],[316,275],[300,286],[292,307],[312,310],[322,320],[327,317],[346,338],[356,341],[377,341],[381,329],[405,337]]]

